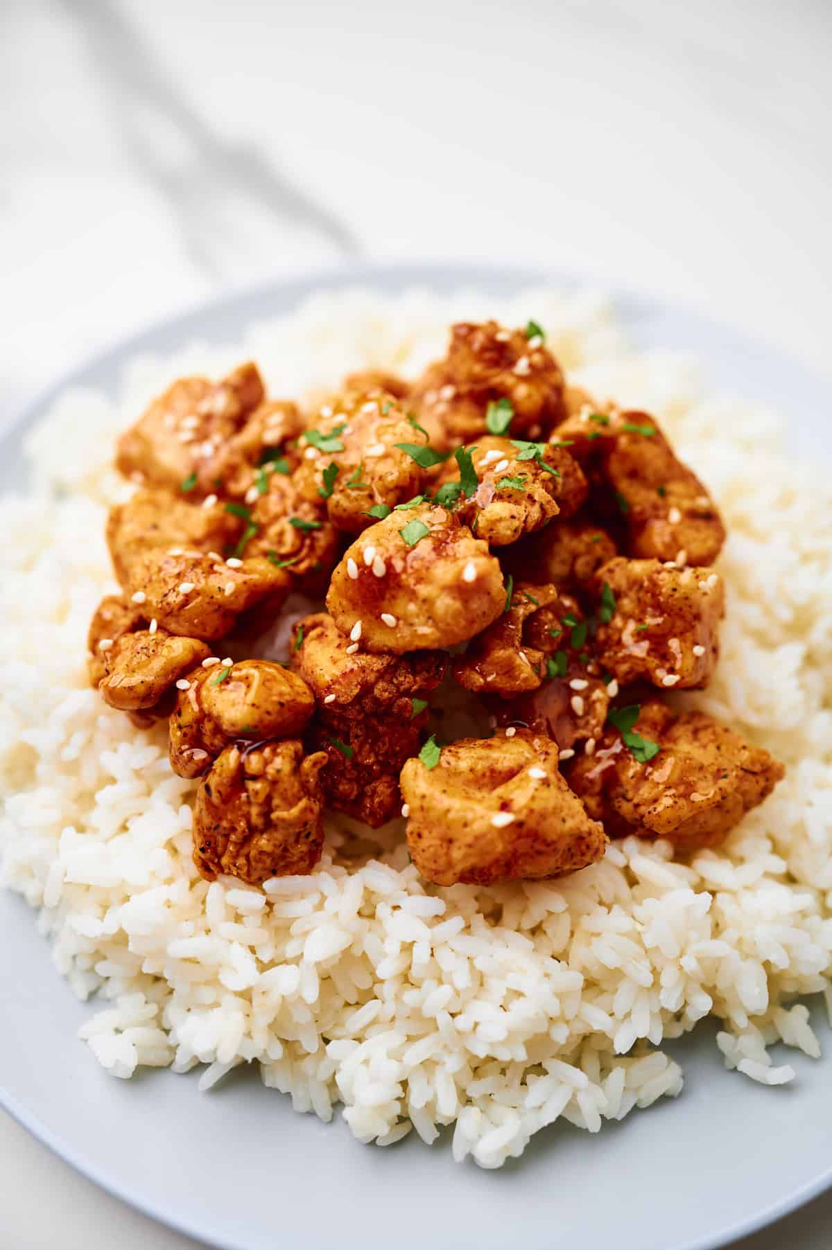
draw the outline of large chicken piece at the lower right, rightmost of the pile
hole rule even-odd
[[[684,852],[716,846],[784,774],[768,751],[701,711],[674,715],[657,700],[629,711],[629,730],[609,725],[568,778],[612,838],[667,838]]]

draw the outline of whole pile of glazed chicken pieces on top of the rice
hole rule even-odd
[[[116,462],[136,489],[90,678],[169,719],[208,879],[312,871],[325,806],[404,815],[438,885],[557,876],[631,832],[682,854],[783,774],[664,702],[717,660],[713,501],[652,416],[566,386],[534,322],[454,325],[415,384],[355,374],[309,415],[253,364],[180,379]],[[327,611],[287,662],[246,658],[290,591]],[[443,681],[489,736],[442,742]]]

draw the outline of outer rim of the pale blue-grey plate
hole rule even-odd
[[[200,334],[204,334],[204,331],[200,331],[199,324],[206,315],[233,316],[236,308],[241,312],[246,305],[263,302],[275,295],[279,295],[280,300],[287,305],[297,305],[312,295],[349,289],[357,285],[367,285],[377,291],[395,294],[414,286],[427,289],[435,289],[438,286],[445,291],[464,289],[465,286],[487,289],[489,282],[503,284],[517,290],[534,286],[554,286],[568,291],[581,289],[597,290],[609,300],[613,308],[627,310],[626,315],[629,318],[638,316],[639,312],[649,314],[657,309],[669,309],[677,318],[682,318],[691,326],[698,328],[711,335],[717,334],[723,341],[733,344],[737,350],[752,355],[758,355],[762,351],[766,356],[781,361],[789,369],[798,369],[804,378],[808,378],[817,385],[826,388],[829,385],[829,380],[823,371],[784,351],[776,344],[769,344],[763,339],[738,330],[719,318],[711,316],[683,301],[677,302],[673,298],[659,294],[653,295],[648,290],[622,286],[618,282],[607,288],[597,274],[582,274],[568,269],[561,270],[548,265],[532,270],[528,266],[512,264],[497,265],[490,262],[478,264],[477,261],[458,262],[430,259],[425,261],[397,261],[392,259],[384,261],[358,261],[322,268],[320,270],[313,269],[287,278],[274,276],[263,282],[190,302],[179,311],[151,321],[140,330],[123,335],[115,342],[93,351],[80,364],[61,371],[55,379],[39,388],[8,420],[0,422],[0,444],[8,439],[20,436],[21,430],[41,418],[65,390],[71,386],[85,385],[88,375],[104,371],[111,372],[114,378],[118,378],[129,356],[148,351],[170,354],[176,348],[188,342],[189,339],[199,338]],[[246,322],[241,322],[241,328],[244,324]],[[250,315],[248,324],[253,324]],[[168,340],[166,344],[165,340]],[[679,350],[683,349],[681,348]],[[96,385],[105,390],[111,390],[113,379],[108,382],[99,381]],[[74,1171],[148,1219],[155,1220],[158,1224],[183,1236],[214,1246],[215,1250],[246,1250],[244,1242],[219,1240],[216,1235],[210,1240],[205,1240],[204,1231],[195,1230],[193,1224],[188,1225],[180,1221],[175,1214],[160,1212],[160,1210],[154,1209],[153,1204],[141,1198],[140,1190],[133,1189],[129,1184],[121,1184],[118,1179],[106,1175],[98,1164],[85,1156],[84,1151],[76,1150],[71,1142],[68,1142],[58,1132],[49,1129],[38,1115],[29,1111],[6,1089],[1,1079],[0,1108],[31,1134],[31,1136],[73,1168]],[[798,1186],[778,1201],[764,1206],[754,1215],[736,1220],[704,1239],[698,1238],[693,1241],[677,1244],[674,1250],[721,1250],[721,1248],[728,1246],[741,1238],[749,1236],[776,1224],[829,1189],[832,1189],[832,1164],[813,1180]]]

